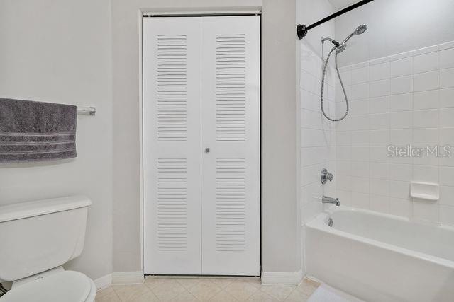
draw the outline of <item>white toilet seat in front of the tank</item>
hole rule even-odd
[[[92,302],[96,286],[80,272],[62,271],[27,282],[8,291],[1,302]]]

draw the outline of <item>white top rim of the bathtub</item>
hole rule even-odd
[[[351,212],[362,212],[365,214],[370,214],[370,215],[375,215],[375,216],[381,216],[387,219],[396,219],[399,221],[404,221],[408,223],[419,223],[415,221],[411,221],[408,218],[402,217],[402,216],[394,216],[390,214],[383,214],[383,213],[378,213],[375,211],[370,211],[370,210],[365,210],[365,209],[357,209],[353,207],[345,207],[345,206],[340,206],[340,207],[330,207],[329,209],[326,209],[326,211],[323,211],[321,214],[317,215],[314,219],[309,221],[309,223],[306,223],[306,228],[311,228],[316,231],[322,231],[324,233],[331,233],[336,236],[341,236],[344,238],[348,238],[350,240],[354,240],[359,243],[364,243],[366,245],[373,246],[375,248],[383,248],[386,250],[391,250],[392,252],[398,252],[400,254],[419,259],[419,260],[425,260],[428,262],[431,262],[436,265],[441,265],[443,267],[449,267],[450,269],[454,269],[454,261],[441,258],[441,257],[436,257],[433,255],[428,255],[423,252],[416,252],[415,250],[409,250],[408,248],[401,248],[396,245],[392,245],[389,243],[384,243],[382,241],[366,238],[363,236],[358,236],[353,233],[348,233],[345,231],[338,230],[336,228],[328,226],[328,218],[333,212],[335,211],[351,211]],[[444,228],[447,229],[448,231],[454,232],[454,228],[450,226],[439,226],[436,224],[425,224],[425,223],[420,223],[423,225],[427,226],[436,226],[437,228]]]

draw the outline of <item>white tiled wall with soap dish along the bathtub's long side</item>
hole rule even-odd
[[[450,158],[387,156],[392,144],[454,146],[453,47],[434,45],[342,68],[350,115],[336,124],[341,204],[454,226],[454,149]],[[342,108],[339,85],[335,103]],[[411,199],[411,181],[439,183],[440,200]]]

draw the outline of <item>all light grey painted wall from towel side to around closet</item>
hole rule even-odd
[[[94,279],[142,270],[140,10],[188,6],[263,7],[262,269],[301,269],[294,1],[1,1],[1,96],[98,112],[79,116],[74,160],[2,165],[0,203],[87,194],[86,247],[68,267]]]

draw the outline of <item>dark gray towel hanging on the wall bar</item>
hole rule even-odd
[[[76,157],[77,107],[0,98],[0,163]]]

